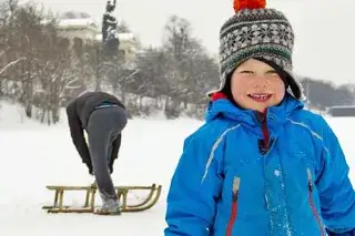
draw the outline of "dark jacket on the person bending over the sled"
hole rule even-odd
[[[115,96],[104,93],[104,92],[88,92],[83,95],[77,98],[67,106],[68,123],[70,127],[70,134],[72,141],[82,158],[82,162],[92,170],[91,157],[88,144],[84,137],[84,130],[88,125],[88,121],[91,112],[103,102],[109,102],[118,104],[124,107],[121,101]],[[112,155],[110,160],[110,171],[112,173],[112,165],[115,158],[118,158],[118,153],[121,146],[121,134],[112,144]]]

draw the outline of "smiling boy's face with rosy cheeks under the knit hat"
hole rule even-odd
[[[232,74],[232,95],[244,109],[264,112],[277,105],[285,95],[285,84],[268,64],[250,59]]]

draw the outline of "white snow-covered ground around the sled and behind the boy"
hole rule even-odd
[[[47,214],[53,193],[45,185],[92,183],[81,163],[67,126],[65,116],[55,126],[24,119],[17,106],[0,109],[0,235],[6,236],[162,236],[165,227],[165,196],[180,157],[182,143],[201,122],[189,119],[165,121],[130,120],[124,131],[120,157],[115,162],[115,185],[163,185],[159,203],[143,213],[121,216],[91,214]],[[355,183],[355,119],[327,119],[338,135]],[[67,203],[81,204],[83,197],[69,194]]]

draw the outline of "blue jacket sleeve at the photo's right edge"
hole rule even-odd
[[[322,216],[331,232],[349,232],[355,228],[355,193],[349,167],[336,135],[323,117],[321,122],[324,146],[316,185]]]

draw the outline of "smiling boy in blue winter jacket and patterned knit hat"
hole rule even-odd
[[[304,110],[294,33],[265,1],[234,1],[221,29],[221,84],[184,142],[165,236],[354,236],[348,165],[326,121]]]

